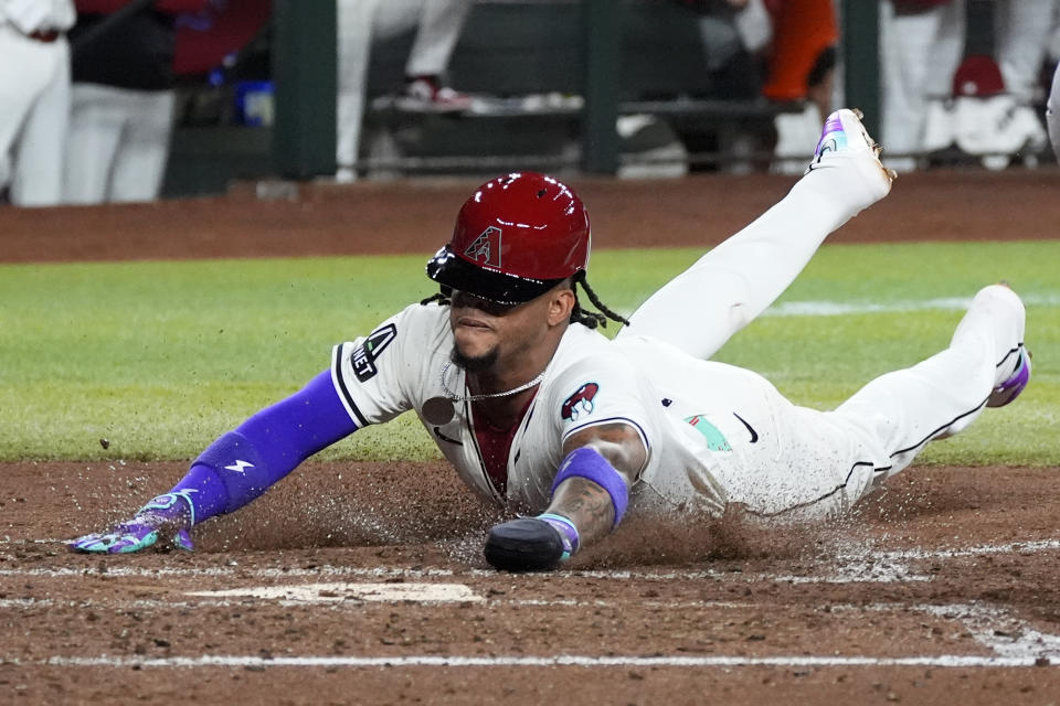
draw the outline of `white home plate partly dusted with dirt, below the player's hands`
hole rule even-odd
[[[297,586],[252,586],[223,591],[190,591],[206,598],[264,598],[320,603],[343,600],[417,601],[467,603],[485,600],[464,584],[299,584]]]

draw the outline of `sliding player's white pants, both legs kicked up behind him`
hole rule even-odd
[[[861,164],[857,163],[861,160]],[[625,331],[707,359],[765,310],[825,237],[886,194],[861,180],[866,153],[830,159],[777,205],[651,296]],[[690,325],[688,302],[699,325]],[[845,511],[907,468],[932,440],[966,428],[1018,363],[1025,311],[1004,286],[973,300],[948,347],[882,375],[833,411],[799,407],[764,378],[742,375],[736,421],[721,429],[732,454],[717,479],[752,514],[804,518]],[[735,418],[734,418],[735,419]]]

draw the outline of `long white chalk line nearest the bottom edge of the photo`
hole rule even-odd
[[[13,661],[20,664],[18,661]],[[88,666],[88,667],[494,667],[494,666],[579,666],[579,667],[699,667],[733,668],[753,666],[782,667],[856,667],[856,666],[912,666],[912,667],[1032,667],[1058,666],[1042,657],[1035,656],[987,656],[964,654],[941,654],[934,656],[882,657],[882,656],[592,656],[558,654],[550,656],[437,656],[411,655],[392,657],[359,656],[278,656],[261,657],[250,655],[202,655],[198,657],[136,657],[136,656],[96,656],[63,657],[53,656],[34,664],[49,666]]]

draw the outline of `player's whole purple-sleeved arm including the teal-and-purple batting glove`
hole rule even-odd
[[[246,505],[305,459],[356,430],[330,371],[325,371],[211,443],[170,492],[149,501],[130,520],[67,546],[100,554],[191,549],[192,526]]]

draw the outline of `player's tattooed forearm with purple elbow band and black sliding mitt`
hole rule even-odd
[[[622,522],[629,486],[647,459],[637,431],[626,424],[590,427],[572,434],[563,451],[545,512],[490,528],[485,554],[494,567],[556,568]]]

